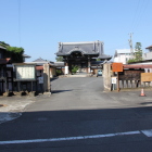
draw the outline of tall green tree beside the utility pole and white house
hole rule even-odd
[[[142,61],[141,42],[136,42],[136,46],[135,46],[135,58],[128,60],[128,63],[139,62],[139,61]]]

